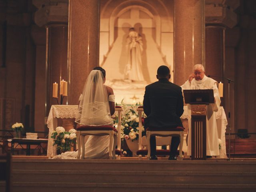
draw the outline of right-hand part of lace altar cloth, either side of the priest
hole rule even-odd
[[[188,119],[188,106],[184,106],[184,112],[181,119]],[[224,111],[224,108],[220,106],[218,112],[216,112],[216,121],[217,121],[217,127],[218,127],[218,137],[221,140],[220,143],[220,156],[219,158],[227,158],[226,155],[226,126],[228,125],[228,120]]]

